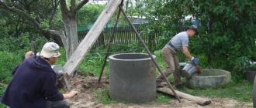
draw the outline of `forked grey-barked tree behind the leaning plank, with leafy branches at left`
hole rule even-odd
[[[75,16],[78,10],[87,2],[88,0],[82,0],[76,5],[75,0],[71,0],[70,6],[67,8],[66,0],[5,0],[0,1],[0,8],[25,17],[26,24],[36,28],[36,32],[40,32],[47,39],[50,39],[50,35],[60,36],[66,49],[66,58],[68,59],[78,46],[77,21]],[[61,5],[64,31],[50,29],[50,23],[53,22],[58,5]]]

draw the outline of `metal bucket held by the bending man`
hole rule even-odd
[[[193,76],[196,72],[195,65],[192,62],[187,63],[184,68],[182,69],[182,75],[189,79],[191,76]]]

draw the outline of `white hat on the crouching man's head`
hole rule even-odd
[[[40,56],[43,56],[45,58],[61,56],[59,49],[60,49],[60,46],[58,46],[57,43],[47,42],[43,45],[43,49],[40,52]]]

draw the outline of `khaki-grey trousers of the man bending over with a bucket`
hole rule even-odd
[[[175,54],[173,54],[170,49],[165,47],[161,50],[161,55],[164,59],[166,67],[166,69],[164,70],[164,75],[168,77],[171,75],[171,73],[174,73],[175,86],[181,84],[180,66],[177,56],[175,56]],[[157,80],[163,81],[164,77],[161,75],[157,76]]]

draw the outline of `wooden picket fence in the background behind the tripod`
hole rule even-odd
[[[138,32],[140,32],[140,36],[142,39],[144,39],[144,42],[150,49],[156,49],[156,45],[158,43],[157,36],[159,32],[150,33],[150,35],[147,35],[146,33],[141,32],[141,28],[145,27],[146,25],[136,25]],[[78,32],[78,42],[81,42],[82,39],[85,38],[85,35],[87,34],[87,31]],[[104,29],[99,35],[99,39],[95,42],[92,49],[99,48],[99,47],[105,47],[111,38],[112,28]],[[137,39],[135,32],[133,32],[133,29],[130,26],[123,26],[123,27],[117,27],[115,30],[114,39],[112,41],[112,47],[118,47],[118,49],[123,49],[125,46],[129,45],[140,45],[139,39]],[[123,47],[122,47],[123,46]],[[141,47],[143,47],[141,45]]]

